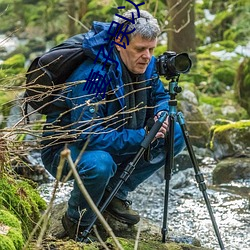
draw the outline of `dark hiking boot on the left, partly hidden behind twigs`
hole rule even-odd
[[[86,239],[83,237],[83,232],[86,227],[78,225],[71,218],[68,217],[67,213],[62,217],[63,228],[66,232],[65,236],[78,242],[91,243],[97,241],[97,238],[90,234]]]

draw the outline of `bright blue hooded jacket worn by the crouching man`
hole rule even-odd
[[[88,150],[104,150],[113,155],[133,154],[140,148],[146,132],[143,127],[139,129],[124,127],[122,111],[124,111],[125,100],[122,69],[120,63],[116,69],[115,63],[115,61],[119,62],[119,59],[115,53],[111,53],[111,60],[108,60],[106,66],[103,67],[106,59],[100,53],[98,61],[94,64],[101,45],[105,45],[106,55],[111,48],[112,38],[105,40],[109,37],[109,27],[110,23],[94,22],[93,28],[86,33],[83,48],[88,59],[67,80],[68,88],[62,93],[65,101],[55,102],[55,108],[47,116],[47,123],[64,127],[63,137],[65,138],[65,133],[67,133],[67,136],[79,147],[83,147],[88,139]],[[149,87],[147,106],[154,107],[151,109],[153,110],[151,116],[159,111],[168,111],[169,100],[169,95],[165,92],[156,73],[155,60],[152,57],[145,72],[146,86]],[[95,93],[84,90],[86,82],[83,80],[88,78],[92,69],[101,75],[107,73],[109,79],[112,79],[108,91],[116,91],[111,100],[104,101],[101,95],[95,97]],[[70,111],[62,112],[65,106]],[[45,132],[45,135],[52,135],[52,132]]]

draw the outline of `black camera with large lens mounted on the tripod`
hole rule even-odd
[[[164,52],[156,59],[157,73],[165,76],[167,80],[187,73],[192,66],[192,61],[187,53],[176,54],[174,51]]]

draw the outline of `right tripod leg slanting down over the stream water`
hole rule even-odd
[[[195,179],[196,179],[196,181],[197,181],[197,183],[199,185],[200,191],[203,194],[203,197],[204,197],[204,200],[205,200],[205,203],[206,203],[206,206],[207,206],[207,210],[209,212],[209,215],[210,215],[210,218],[211,218],[211,221],[212,221],[212,224],[213,224],[213,228],[214,228],[216,237],[218,239],[220,248],[221,248],[221,250],[224,250],[225,247],[223,245],[223,242],[222,242],[222,239],[221,239],[221,236],[220,236],[220,232],[219,232],[219,229],[218,229],[218,226],[217,226],[214,214],[213,214],[213,210],[212,210],[210,201],[208,199],[208,195],[207,195],[207,192],[206,192],[207,188],[206,188],[206,184],[204,182],[204,177],[203,177],[203,174],[201,173],[201,171],[199,169],[198,162],[197,162],[197,159],[195,157],[195,154],[194,154],[194,151],[193,151],[190,139],[189,139],[189,133],[188,133],[187,128],[186,128],[184,116],[183,116],[183,114],[181,112],[178,112],[177,113],[177,118],[178,118],[179,124],[181,126],[181,130],[182,130],[185,142],[186,142],[186,146],[187,146],[187,150],[188,150],[190,159],[191,159],[191,161],[193,163],[193,167],[194,167],[194,171],[195,171]]]

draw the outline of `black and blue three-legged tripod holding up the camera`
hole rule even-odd
[[[118,192],[118,190],[120,189],[122,184],[132,174],[138,161],[143,156],[144,152],[147,150],[150,143],[153,141],[153,139],[155,138],[155,135],[157,134],[157,132],[161,128],[163,122],[166,120],[166,118],[168,116],[169,117],[168,118],[169,119],[169,131],[168,131],[168,135],[166,137],[166,144],[167,144],[166,148],[168,150],[166,153],[166,161],[165,161],[165,180],[166,180],[165,184],[166,185],[165,185],[164,215],[163,215],[163,226],[162,226],[162,242],[163,243],[166,242],[166,234],[168,232],[168,230],[167,230],[167,214],[168,214],[169,181],[171,179],[172,169],[173,169],[173,164],[174,164],[174,123],[175,123],[175,119],[177,117],[178,122],[181,126],[181,130],[182,130],[185,142],[186,142],[186,146],[187,146],[191,161],[192,161],[193,166],[194,166],[196,181],[199,184],[199,189],[202,192],[203,197],[205,199],[206,206],[207,206],[207,209],[208,209],[208,212],[209,212],[209,215],[210,215],[210,218],[211,218],[211,221],[212,221],[220,248],[221,248],[221,250],[224,250],[225,248],[224,248],[223,242],[221,240],[218,226],[216,224],[216,221],[215,221],[215,218],[213,215],[213,211],[212,211],[212,208],[211,208],[211,205],[210,205],[210,202],[208,199],[208,195],[206,192],[206,184],[204,182],[203,175],[199,170],[198,163],[197,163],[195,154],[193,152],[193,148],[192,148],[191,143],[190,143],[188,131],[186,129],[186,125],[185,125],[185,121],[184,121],[184,117],[180,112],[177,113],[177,111],[176,111],[177,110],[176,109],[177,100],[175,99],[175,97],[176,97],[177,93],[180,93],[182,90],[178,86],[178,80],[179,80],[179,77],[176,80],[172,79],[169,83],[169,94],[170,94],[170,100],[168,101],[169,113],[167,113],[167,112],[161,113],[159,119],[155,122],[155,124],[151,128],[148,135],[142,141],[140,150],[135,155],[134,159],[130,163],[128,163],[128,165],[124,169],[123,173],[121,174],[120,180],[117,183],[116,187],[109,194],[108,198],[102,204],[102,206],[99,210],[102,213],[107,208],[107,206],[112,201],[112,199],[114,198],[114,196],[116,195],[116,193]],[[97,220],[97,216],[94,217],[93,221],[90,223],[90,225],[87,227],[87,229],[85,229],[84,232],[82,233],[83,240],[87,239],[87,237],[88,237],[89,233],[91,232],[92,227],[94,226],[96,220]]]

